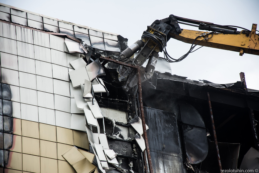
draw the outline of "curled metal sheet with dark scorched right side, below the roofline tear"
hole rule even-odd
[[[99,59],[96,59],[86,67],[87,73],[89,75],[90,81],[94,80],[96,77],[105,75],[102,64]]]

